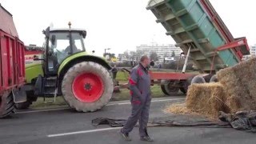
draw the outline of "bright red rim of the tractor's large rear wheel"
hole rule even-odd
[[[79,74],[74,78],[72,90],[80,102],[96,102],[103,94],[102,78],[92,73]]]

